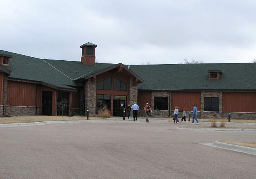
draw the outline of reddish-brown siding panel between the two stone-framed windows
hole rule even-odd
[[[179,110],[185,108],[189,111],[193,109],[193,104],[196,105],[198,111],[201,109],[201,92],[172,92],[171,98],[171,110],[177,106]]]

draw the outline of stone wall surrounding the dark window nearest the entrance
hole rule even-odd
[[[161,110],[159,117],[168,117],[169,116],[169,108],[171,107],[171,100],[169,100],[169,92],[168,91],[152,91],[151,93],[151,109],[152,109],[152,117],[158,117],[157,110],[154,110],[154,97],[168,97],[168,109]],[[144,108],[144,106],[143,106]],[[144,114],[145,115],[145,114]],[[172,114],[170,113],[170,116]]]

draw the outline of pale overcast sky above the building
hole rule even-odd
[[[251,62],[255,0],[0,0],[0,49],[80,61],[95,43],[102,63]]]

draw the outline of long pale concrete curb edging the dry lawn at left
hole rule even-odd
[[[143,123],[141,121],[42,121],[34,123],[12,123],[12,124],[0,124],[0,127],[18,127],[18,126],[36,126],[36,125],[45,125],[45,124],[67,124],[67,123]]]

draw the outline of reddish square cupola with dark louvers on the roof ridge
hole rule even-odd
[[[80,46],[82,48],[81,62],[83,65],[95,65],[95,48],[97,45],[93,43],[85,43]]]

